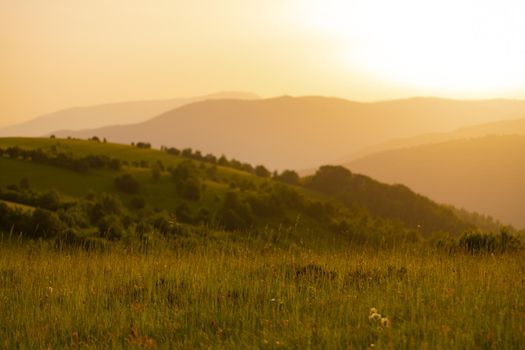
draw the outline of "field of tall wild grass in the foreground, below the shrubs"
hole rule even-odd
[[[206,242],[89,252],[4,240],[0,348],[525,346],[523,253]]]

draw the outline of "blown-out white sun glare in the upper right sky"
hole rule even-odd
[[[301,18],[340,45],[346,64],[447,94],[525,82],[525,3],[485,0],[310,1]]]

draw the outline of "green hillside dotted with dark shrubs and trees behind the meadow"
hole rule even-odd
[[[211,225],[252,232],[293,227],[303,237],[383,241],[457,235],[475,226],[406,187],[380,184],[341,167],[322,167],[303,179],[290,171],[272,178],[264,167],[147,146],[4,138],[0,150],[0,200],[56,212],[46,222],[56,227],[66,222],[81,235],[109,230],[107,221],[117,223],[119,237],[143,225],[173,234],[181,227]],[[33,215],[50,215],[45,213]],[[3,224],[16,221],[22,225],[18,229],[31,231],[24,225],[35,219],[17,215],[19,221]]]

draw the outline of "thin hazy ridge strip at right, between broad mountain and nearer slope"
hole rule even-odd
[[[349,156],[345,161],[348,162],[353,159],[362,158],[373,153],[387,150],[488,135],[525,135],[525,118],[477,124],[463,127],[452,132],[430,133],[409,138],[394,139],[367,147],[356,154]]]

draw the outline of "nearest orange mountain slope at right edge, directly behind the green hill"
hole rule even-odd
[[[385,151],[346,164],[441,203],[525,227],[525,136],[486,136]]]

